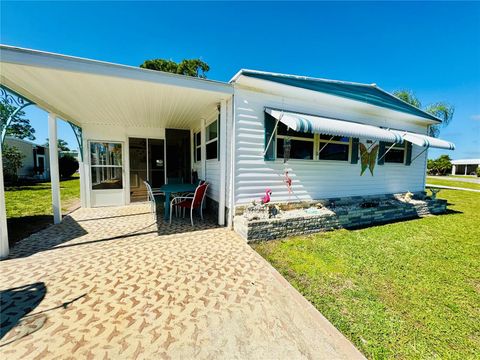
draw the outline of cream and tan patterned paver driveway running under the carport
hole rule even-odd
[[[80,209],[0,262],[3,359],[362,355],[242,239]]]

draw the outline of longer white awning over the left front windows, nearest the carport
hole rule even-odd
[[[271,108],[266,108],[265,112],[294,131],[331,136],[364,138],[392,143],[403,142],[403,138],[400,134],[372,125],[330,119],[321,116],[298,114]]]

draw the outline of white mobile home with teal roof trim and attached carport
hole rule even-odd
[[[266,188],[273,202],[423,191],[428,148],[454,149],[427,136],[441,120],[376,85],[251,70],[225,83],[1,50],[6,86],[82,128],[85,207],[144,200],[142,180],[194,170],[231,224]]]

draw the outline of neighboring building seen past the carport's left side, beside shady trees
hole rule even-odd
[[[5,137],[5,144],[16,147],[23,155],[23,166],[18,169],[20,179],[50,180],[48,147],[28,140]]]

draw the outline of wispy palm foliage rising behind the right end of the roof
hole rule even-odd
[[[436,102],[436,103],[427,105],[422,109],[422,103],[415,96],[415,94],[410,90],[396,90],[393,92],[393,95],[405,101],[406,103],[413,105],[416,108],[419,108],[442,120],[441,124],[431,125],[429,127],[428,131],[430,136],[438,137],[438,135],[440,134],[440,129],[442,127],[447,127],[448,124],[450,124],[450,122],[453,119],[455,107],[446,102]]]

